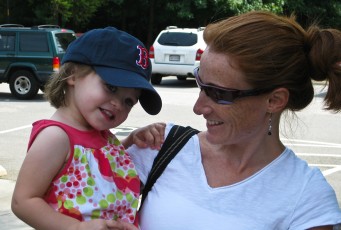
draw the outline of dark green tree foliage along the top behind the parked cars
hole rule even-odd
[[[0,21],[59,24],[77,32],[115,26],[150,45],[166,26],[205,26],[252,10],[294,13],[304,26],[318,21],[341,28],[341,0],[10,0],[0,2]]]

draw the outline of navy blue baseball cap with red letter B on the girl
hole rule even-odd
[[[134,36],[114,27],[90,30],[68,46],[62,64],[66,62],[92,66],[107,84],[141,89],[143,109],[151,115],[160,112],[161,97],[150,84],[148,50]]]

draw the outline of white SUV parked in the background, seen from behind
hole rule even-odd
[[[152,84],[160,84],[162,77],[166,76],[177,76],[179,80],[193,77],[193,70],[199,66],[201,54],[206,48],[204,29],[168,26],[159,33],[149,49]]]

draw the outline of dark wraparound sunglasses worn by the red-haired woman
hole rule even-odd
[[[229,89],[219,86],[212,86],[204,84],[199,77],[199,67],[194,69],[194,76],[200,90],[204,90],[205,94],[214,102],[222,105],[232,104],[234,100],[242,97],[257,96],[260,94],[268,93],[274,90],[274,87],[264,89],[249,89],[238,90]]]

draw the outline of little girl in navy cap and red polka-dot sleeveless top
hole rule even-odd
[[[107,27],[71,43],[62,64],[45,93],[57,110],[33,124],[12,210],[36,229],[136,229],[140,180],[109,129],[122,124],[138,101],[151,115],[161,110],[149,83],[147,50]],[[155,124],[146,138],[163,128]],[[153,138],[144,144],[163,140]]]

